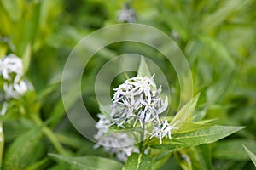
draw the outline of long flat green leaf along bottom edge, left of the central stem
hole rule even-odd
[[[64,161],[74,169],[83,170],[104,170],[113,169],[119,170],[123,167],[119,161],[113,161],[108,158],[100,156],[83,156],[83,157],[71,157],[71,156],[60,156],[55,154],[49,154],[56,160]]]

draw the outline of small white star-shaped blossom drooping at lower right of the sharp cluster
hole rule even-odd
[[[177,129],[177,127],[175,127],[176,124],[177,122],[175,122],[173,125],[170,125],[170,123],[168,123],[167,121],[160,122],[157,126],[153,127],[153,131],[149,139],[156,137],[160,139],[160,144],[162,144],[162,138],[164,137],[172,139],[171,131],[173,129]]]

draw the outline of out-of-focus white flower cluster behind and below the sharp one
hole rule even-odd
[[[100,120],[96,123],[98,132],[94,136],[97,140],[95,149],[102,145],[103,150],[116,154],[120,161],[126,161],[131,153],[138,152],[137,147],[133,145],[134,140],[126,133],[108,134],[108,128],[113,124],[108,116],[98,114],[98,117]]]

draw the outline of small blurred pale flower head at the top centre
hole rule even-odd
[[[117,11],[118,21],[119,22],[135,22],[136,14],[132,8],[129,8],[127,4],[125,4],[124,8]]]

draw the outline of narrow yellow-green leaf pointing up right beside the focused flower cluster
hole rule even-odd
[[[176,126],[177,129],[172,130],[172,134],[177,133],[180,127],[183,126],[184,122],[187,122],[189,120],[189,117],[195,111],[195,106],[197,104],[197,101],[199,99],[200,94],[197,94],[193,99],[189,101],[186,105],[183,106],[183,108],[177,112],[177,114],[173,117],[171,124],[174,124],[177,122]]]

